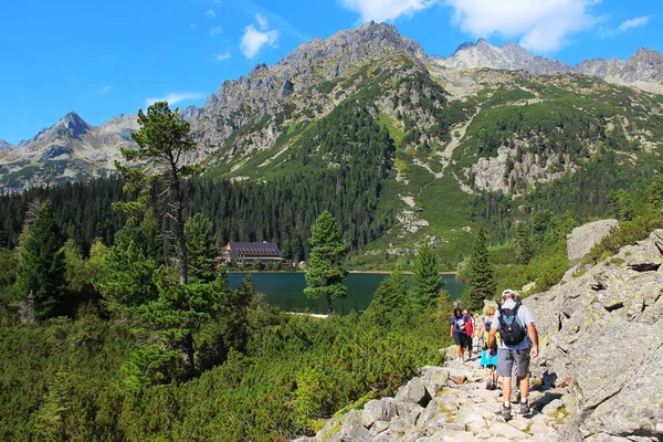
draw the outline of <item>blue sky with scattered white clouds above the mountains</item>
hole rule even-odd
[[[70,110],[99,125],[156,99],[202,105],[223,80],[370,20],[442,56],[480,36],[569,64],[663,52],[660,0],[9,0],[0,139],[18,144]]]

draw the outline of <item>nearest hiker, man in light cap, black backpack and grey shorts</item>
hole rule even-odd
[[[529,394],[529,360],[538,356],[538,334],[534,325],[532,313],[516,302],[516,294],[511,288],[502,292],[504,304],[497,308],[488,334],[488,355],[494,355],[492,348],[499,332],[499,345],[497,346],[497,376],[502,377],[502,394],[504,404],[502,415],[504,420],[512,419],[511,394],[512,394],[512,368],[517,365],[518,383],[520,387],[520,411],[519,414],[530,413],[527,397]],[[527,336],[532,341],[532,348]]]

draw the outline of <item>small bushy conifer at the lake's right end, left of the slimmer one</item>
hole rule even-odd
[[[423,311],[436,305],[443,283],[438,272],[438,256],[429,244],[423,244],[414,259],[412,283],[411,304],[414,309]]]

